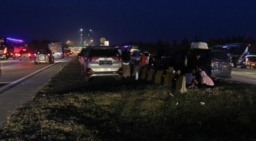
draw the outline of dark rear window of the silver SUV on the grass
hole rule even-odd
[[[94,48],[90,50],[89,56],[91,57],[119,57],[117,49],[110,48]]]

